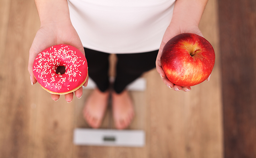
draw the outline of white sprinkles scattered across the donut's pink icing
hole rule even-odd
[[[72,85],[72,82],[76,82],[76,75],[81,76],[81,71],[78,67],[84,65],[85,60],[79,59],[76,55],[76,51],[69,50],[69,46],[56,49],[50,47],[50,51],[41,52],[35,59],[37,62],[34,65],[33,71],[38,73],[38,78],[42,79],[45,84],[45,88],[61,90],[65,82],[70,82],[67,87]],[[78,61],[79,59],[79,61]],[[61,63],[60,63],[61,62]],[[63,75],[58,75],[56,69],[58,66],[65,66],[66,71]],[[87,72],[86,72],[87,73]],[[47,77],[48,74],[51,76]],[[63,77],[65,75],[65,77]],[[87,75],[87,74],[86,74]],[[49,78],[49,80],[47,80]],[[67,88],[69,90],[69,88]]]

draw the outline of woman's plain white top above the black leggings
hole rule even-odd
[[[175,0],[69,0],[83,46],[106,53],[159,49]]]

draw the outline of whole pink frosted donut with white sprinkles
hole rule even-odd
[[[87,60],[77,48],[59,44],[37,55],[33,73],[37,82],[49,93],[68,94],[86,82]]]

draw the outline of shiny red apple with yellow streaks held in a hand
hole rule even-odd
[[[205,38],[194,33],[181,33],[164,46],[161,65],[173,84],[182,87],[206,80],[214,67],[214,49]]]

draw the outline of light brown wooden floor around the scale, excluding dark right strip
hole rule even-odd
[[[31,85],[28,53],[39,28],[33,0],[0,1],[1,158],[222,158],[223,118],[217,0],[209,0],[200,28],[216,52],[210,82],[188,93],[170,90],[156,70],[144,75],[147,89],[131,91],[136,117],[129,129],[146,132],[141,148],[76,146],[73,130],[88,127],[81,99],[58,102]],[[102,128],[114,128],[109,109]]]

